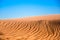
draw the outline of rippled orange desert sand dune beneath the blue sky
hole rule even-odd
[[[0,40],[60,40],[60,15],[0,20]]]

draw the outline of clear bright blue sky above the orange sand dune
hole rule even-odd
[[[60,0],[0,0],[0,19],[60,14]]]

